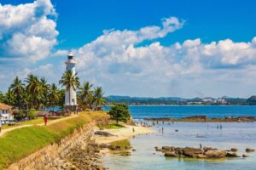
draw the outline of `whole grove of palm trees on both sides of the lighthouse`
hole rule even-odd
[[[101,87],[92,90],[93,85],[90,82],[84,82],[80,87],[79,77],[77,74],[73,75],[72,71],[66,71],[59,83],[66,89],[60,89],[55,83],[49,84],[44,77],[32,74],[28,75],[24,81],[15,77],[5,94],[0,91],[0,102],[13,105],[20,110],[15,112],[17,120],[27,116],[31,109],[51,108],[54,111],[55,106],[63,108],[65,92],[70,88],[79,89],[78,101],[79,104],[85,105],[84,109],[96,106],[96,109],[101,110],[102,105],[106,103]]]

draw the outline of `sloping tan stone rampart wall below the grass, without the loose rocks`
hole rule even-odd
[[[60,142],[49,144],[41,150],[34,152],[30,156],[26,156],[19,162],[10,165],[8,170],[46,170],[60,167],[55,165],[56,162],[65,160],[73,148],[85,148],[89,141],[92,140],[94,134],[95,123],[90,122],[84,127],[75,130],[72,134],[61,139]],[[60,164],[60,163],[59,163]]]

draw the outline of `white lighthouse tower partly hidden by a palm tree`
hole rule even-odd
[[[76,64],[76,62],[73,59],[73,54],[69,53],[67,55],[66,70],[72,71],[73,76],[76,74],[75,64]],[[76,94],[76,91],[72,87],[70,89],[66,90],[65,106],[66,106],[66,108],[69,108],[72,111],[75,111],[77,109],[77,94]]]

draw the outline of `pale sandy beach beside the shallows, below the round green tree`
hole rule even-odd
[[[134,132],[133,132],[134,128]],[[99,130],[99,129],[96,129]],[[123,140],[123,139],[130,139],[132,136],[136,136],[139,134],[146,134],[146,133],[154,133],[154,129],[150,127],[142,127],[142,126],[131,126],[125,125],[123,128],[119,129],[105,129],[104,132],[108,132],[113,134],[113,136],[104,137],[96,135],[96,143],[97,144],[108,144],[114,141]]]

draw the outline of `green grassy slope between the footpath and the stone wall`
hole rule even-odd
[[[72,133],[73,130],[90,121],[91,117],[82,113],[48,127],[23,127],[6,133],[0,137],[0,169],[8,167],[11,163],[19,161],[48,144],[59,141],[68,133]]]

